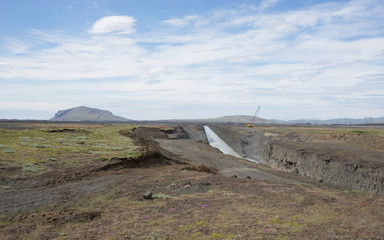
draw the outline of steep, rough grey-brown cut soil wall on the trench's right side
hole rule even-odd
[[[316,149],[315,146],[282,140],[266,143],[263,153],[263,163],[275,169],[298,173],[319,182],[384,194],[384,168],[351,158],[349,153],[336,149]]]

